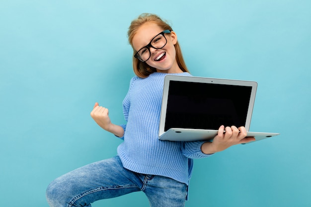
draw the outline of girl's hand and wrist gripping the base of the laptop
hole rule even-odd
[[[224,130],[226,131],[224,133]],[[213,142],[205,142],[201,150],[205,154],[212,154],[219,151],[223,151],[235,144],[248,143],[255,141],[253,137],[246,137],[247,132],[245,127],[236,128],[224,127],[223,125],[219,128],[217,136],[213,139]]]

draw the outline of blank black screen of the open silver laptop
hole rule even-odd
[[[245,126],[251,86],[169,81],[164,131]]]

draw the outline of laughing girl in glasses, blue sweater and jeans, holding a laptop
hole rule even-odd
[[[151,207],[183,207],[193,158],[208,157],[234,144],[254,140],[245,138],[244,127],[235,126],[220,126],[213,142],[158,140],[164,77],[168,73],[190,73],[176,33],[158,16],[140,15],[132,21],[128,37],[137,76],[131,79],[123,101],[127,124],[111,123],[108,109],[98,103],[91,111],[101,128],[124,140],[118,146],[118,155],[54,180],[46,192],[50,207],[90,207],[94,201],[137,191],[146,194]]]

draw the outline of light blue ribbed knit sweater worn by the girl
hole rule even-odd
[[[123,101],[126,125],[118,155],[125,168],[142,173],[161,175],[189,184],[193,158],[210,155],[201,151],[204,141],[163,141],[158,139],[164,77],[154,72],[146,78],[133,77]],[[174,75],[191,76],[188,72]]]

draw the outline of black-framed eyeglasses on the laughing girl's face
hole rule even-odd
[[[142,49],[140,49],[135,55],[134,57],[137,58],[138,60],[142,61],[142,62],[146,62],[150,59],[151,56],[151,52],[150,52],[150,48],[155,48],[155,49],[161,49],[163,48],[166,43],[167,40],[164,36],[165,33],[170,33],[171,30],[164,30],[162,32],[160,32],[159,34],[156,35],[156,37],[154,37],[150,43],[148,45],[146,45],[145,47],[143,47]]]

